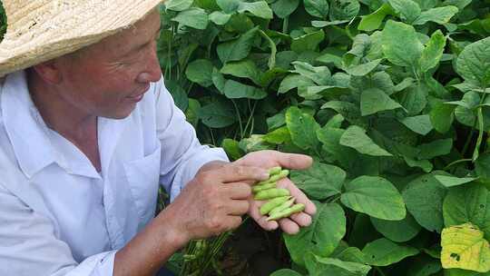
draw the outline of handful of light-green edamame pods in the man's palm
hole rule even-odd
[[[305,210],[304,204],[294,204],[295,199],[289,195],[289,190],[277,188],[279,180],[289,175],[288,170],[281,167],[273,167],[269,170],[269,180],[258,182],[252,188],[255,199],[258,201],[269,200],[260,207],[260,214],[269,214],[268,221],[278,221],[287,218],[296,212]]]

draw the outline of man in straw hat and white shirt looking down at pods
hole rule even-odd
[[[157,0],[5,0],[0,44],[0,275],[154,275],[192,239],[248,213],[250,184],[308,156],[203,146],[165,88]],[[159,183],[172,203],[154,218]]]

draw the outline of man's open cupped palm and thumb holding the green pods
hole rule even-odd
[[[312,159],[308,155],[293,154],[293,153],[279,153],[276,151],[261,151],[255,153],[249,153],[240,158],[234,164],[240,166],[255,166],[264,169],[269,169],[275,166],[281,166],[286,169],[304,170],[311,166]],[[288,178],[282,179],[278,182],[278,187],[286,188],[291,195],[296,198],[297,203],[305,204],[306,208],[304,212],[299,212],[291,215],[289,218],[284,218],[278,222],[267,222],[266,216],[263,216],[259,212],[260,206],[264,203],[261,201],[253,200],[253,196],[250,196],[250,210],[249,215],[265,230],[274,230],[279,226],[282,231],[294,234],[299,232],[300,227],[309,226],[311,224],[311,216],[317,212],[317,208],[308,197],[301,192],[296,185]]]

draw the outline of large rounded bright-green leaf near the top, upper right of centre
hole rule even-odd
[[[415,66],[424,50],[413,26],[393,20],[385,25],[381,41],[383,54],[398,66]]]

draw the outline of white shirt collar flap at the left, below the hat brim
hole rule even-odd
[[[29,94],[25,71],[7,75],[1,93],[5,131],[21,170],[31,178],[59,157],[49,140],[48,128]],[[63,167],[63,160],[58,158]]]

